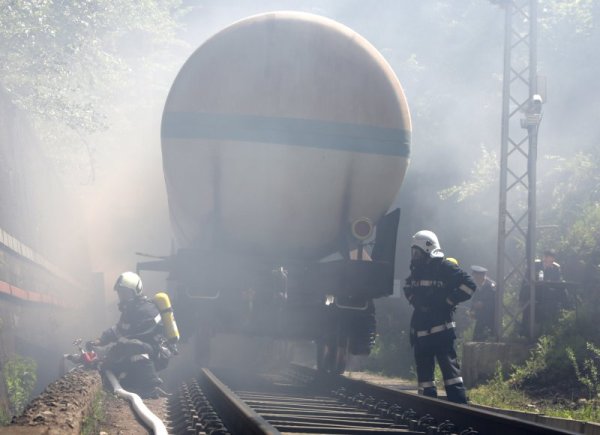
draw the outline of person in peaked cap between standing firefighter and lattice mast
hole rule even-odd
[[[483,266],[471,266],[477,293],[471,299],[471,314],[475,319],[473,341],[486,341],[494,330],[494,309],[496,306],[496,283],[487,277]]]

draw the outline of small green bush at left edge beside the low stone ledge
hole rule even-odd
[[[12,355],[4,364],[4,381],[11,411],[18,415],[25,409],[37,381],[37,363],[34,359]]]

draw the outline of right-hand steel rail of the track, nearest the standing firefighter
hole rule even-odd
[[[397,391],[365,381],[349,379],[339,375],[323,375],[317,370],[299,364],[291,364],[291,373],[311,385],[323,390],[344,388],[350,395],[372,396],[377,401],[396,404],[404,410],[412,410],[418,416],[429,415],[438,422],[450,420],[462,430],[473,428],[486,435],[574,435],[576,432],[552,428],[537,423],[520,420],[503,414],[459,405],[446,400],[419,396],[414,393]]]

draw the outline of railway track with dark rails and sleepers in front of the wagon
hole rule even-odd
[[[169,400],[173,434],[573,434],[291,365],[279,375],[202,369]]]

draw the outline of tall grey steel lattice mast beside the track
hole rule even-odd
[[[536,163],[542,96],[537,78],[537,0],[492,0],[504,8],[504,77],[500,148],[497,291],[494,333],[528,313],[527,333],[534,337]],[[525,249],[523,250],[523,246]],[[523,252],[524,251],[524,252]],[[511,312],[504,306],[508,287],[529,287],[529,300]],[[508,323],[503,317],[509,315]]]

